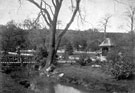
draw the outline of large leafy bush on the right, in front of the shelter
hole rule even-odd
[[[128,79],[132,76],[134,64],[132,63],[131,56],[126,54],[120,54],[120,52],[114,51],[108,54],[107,59],[109,61],[108,71],[116,78]]]

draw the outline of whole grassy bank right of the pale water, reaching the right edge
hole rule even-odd
[[[62,83],[82,85],[90,91],[103,91],[102,93],[135,93],[135,80],[116,81],[100,68],[67,65],[56,70],[64,73],[60,79]]]

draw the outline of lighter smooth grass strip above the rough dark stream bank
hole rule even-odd
[[[92,68],[91,66],[67,65],[56,69],[58,72],[63,72],[66,77],[75,77],[77,79],[93,78],[94,80],[105,81],[110,79],[111,76],[105,74],[100,68]]]

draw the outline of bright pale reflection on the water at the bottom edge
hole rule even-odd
[[[55,88],[55,93],[86,93],[86,92],[77,90],[73,87],[63,86],[60,84],[57,84],[54,88]]]

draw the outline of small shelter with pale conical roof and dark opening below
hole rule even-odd
[[[99,45],[99,47],[101,48],[101,51],[102,51],[102,56],[106,56],[113,46],[114,46],[114,44],[112,43],[112,40],[110,38],[106,38]]]

